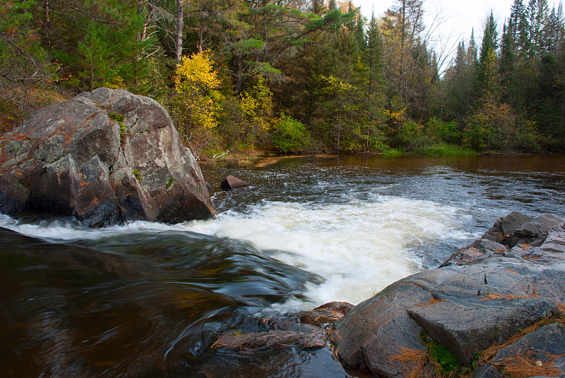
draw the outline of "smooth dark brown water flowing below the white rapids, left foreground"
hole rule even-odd
[[[236,240],[172,232],[76,243],[96,249],[0,228],[1,376],[186,372],[227,319],[319,282]]]

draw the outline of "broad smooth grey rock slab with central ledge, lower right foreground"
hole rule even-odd
[[[493,255],[465,265],[429,269],[397,281],[360,303],[332,334],[345,365],[379,377],[407,377],[403,350],[426,350],[422,331],[470,366],[474,353],[558,311],[565,262],[535,264]]]

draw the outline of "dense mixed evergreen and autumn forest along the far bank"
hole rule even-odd
[[[198,159],[228,152],[565,150],[561,4],[515,0],[453,48],[424,0],[3,0],[0,132],[97,87],[160,102]],[[433,25],[432,25],[433,26]]]

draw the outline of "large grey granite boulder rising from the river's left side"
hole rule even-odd
[[[99,88],[0,136],[0,213],[73,215],[86,226],[213,217],[208,188],[167,111]]]

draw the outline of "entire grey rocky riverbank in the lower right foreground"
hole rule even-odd
[[[513,212],[441,267],[355,307],[331,303],[265,332],[227,332],[215,347],[326,341],[344,366],[376,377],[565,377],[564,222]]]

